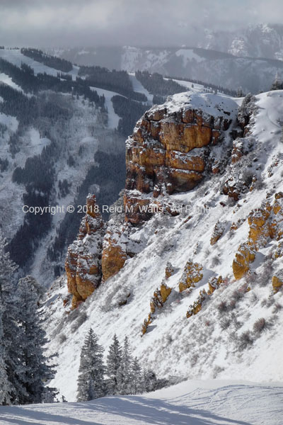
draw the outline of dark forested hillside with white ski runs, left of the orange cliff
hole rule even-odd
[[[84,205],[89,191],[98,193],[100,205],[105,200],[113,203],[125,181],[120,136],[125,130],[121,125],[118,132],[108,128],[110,105],[105,96],[109,98],[108,89],[114,88],[146,100],[144,94],[135,94],[126,73],[101,68],[100,82],[95,81],[100,94],[94,81],[72,73],[69,62],[40,50],[1,50],[0,191],[7,213],[0,224],[20,273],[48,273],[48,279],[62,272],[81,215],[64,211],[54,216],[50,210],[35,214],[30,208]],[[111,85],[113,75],[119,78]],[[135,104],[132,127],[144,111],[141,103]],[[118,115],[123,116],[121,111]],[[129,125],[128,131],[132,131]],[[23,205],[28,212],[23,212]]]

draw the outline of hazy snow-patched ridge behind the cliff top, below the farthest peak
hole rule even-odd
[[[283,70],[280,61],[231,55],[221,57],[217,52],[202,49],[180,49],[173,52],[168,50],[167,55],[162,52],[154,52],[151,55],[151,52],[141,50],[139,56],[129,50],[125,57],[127,60],[122,61],[121,67],[128,72],[137,69],[160,72],[165,76],[191,78],[230,89],[242,87],[252,93],[270,89],[275,74],[279,72],[282,76]]]

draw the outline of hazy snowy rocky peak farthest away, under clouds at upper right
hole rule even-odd
[[[283,60],[282,24],[261,23],[238,30],[207,32],[202,47],[241,57],[267,57]]]

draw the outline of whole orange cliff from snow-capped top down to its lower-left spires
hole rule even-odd
[[[180,94],[138,121],[126,142],[124,222],[110,220],[103,236],[100,213],[91,215],[97,208],[95,197],[89,196],[78,239],[69,246],[66,271],[74,307],[139,251],[131,240],[133,227],[156,212],[178,214],[171,210],[168,196],[190,191],[204,176],[224,169],[236,103],[226,110],[221,101],[216,95]]]

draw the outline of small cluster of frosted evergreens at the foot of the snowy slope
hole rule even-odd
[[[142,370],[137,357],[133,358],[129,340],[125,336],[121,346],[117,336],[103,363],[103,347],[98,336],[89,329],[81,349],[77,401],[86,402],[105,395],[132,395],[164,387],[153,370]]]

